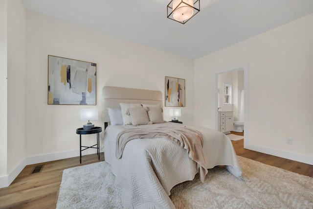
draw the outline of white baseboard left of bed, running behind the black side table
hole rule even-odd
[[[97,153],[96,149],[84,150],[82,155],[89,155]],[[70,150],[66,152],[50,153],[45,155],[37,155],[24,158],[15,168],[6,176],[0,176],[0,188],[10,186],[14,179],[21,173],[26,165],[45,163],[49,161],[57,161],[66,158],[73,158],[79,156],[79,149]]]

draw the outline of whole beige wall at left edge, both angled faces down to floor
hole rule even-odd
[[[10,184],[25,166],[26,10],[21,0],[1,0],[0,8],[2,69],[0,187],[2,187]]]

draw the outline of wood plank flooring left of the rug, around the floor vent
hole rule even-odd
[[[103,152],[100,161],[104,161]],[[55,209],[64,169],[97,163],[97,154],[27,165],[12,184],[0,188],[0,209]],[[40,173],[30,174],[36,165],[44,165]]]

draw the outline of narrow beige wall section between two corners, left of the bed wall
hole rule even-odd
[[[8,1],[8,172],[25,158],[25,7]]]

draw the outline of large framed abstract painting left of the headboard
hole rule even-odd
[[[48,55],[48,104],[96,105],[95,63]]]

